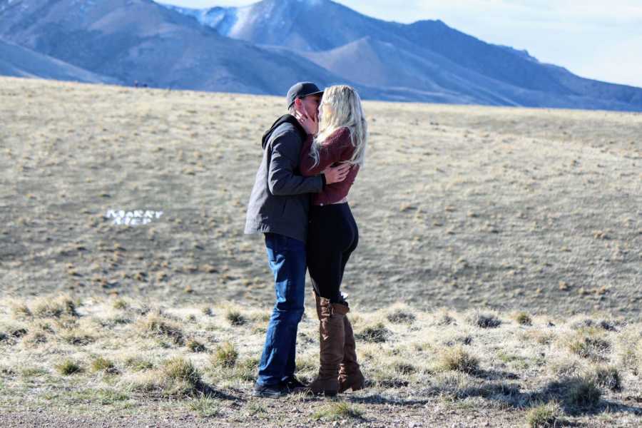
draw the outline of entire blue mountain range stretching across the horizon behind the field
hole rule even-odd
[[[575,76],[439,20],[382,21],[331,0],[0,0],[0,39],[0,73],[11,75],[271,95],[310,80],[379,100],[642,111],[641,88]]]

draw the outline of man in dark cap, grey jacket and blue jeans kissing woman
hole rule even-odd
[[[316,121],[322,94],[310,82],[297,83],[287,91],[290,113],[278,118],[263,135],[263,161],[248,204],[245,233],[265,233],[276,292],[253,391],[257,397],[281,397],[305,387],[294,372],[297,327],[305,294],[310,193],[344,180],[350,169],[346,164],[313,177],[299,173],[301,147],[309,136],[298,118]]]

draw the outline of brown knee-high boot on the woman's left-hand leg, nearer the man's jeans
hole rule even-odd
[[[317,377],[308,385],[315,394],[336,395],[339,391],[339,367],[343,360],[345,342],[345,314],[349,312],[346,305],[330,303],[325,297],[319,299],[319,344],[320,367]]]

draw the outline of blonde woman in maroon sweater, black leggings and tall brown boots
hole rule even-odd
[[[307,266],[320,320],[320,369],[308,386],[315,394],[336,395],[364,387],[355,352],[350,311],[340,292],[345,265],[357,248],[359,233],[347,203],[350,186],[364,163],[367,123],[361,100],[350,86],[325,90],[316,118],[299,115],[310,136],[302,148],[302,175],[316,175],[337,163],[350,163],[347,178],[312,195],[307,235]]]

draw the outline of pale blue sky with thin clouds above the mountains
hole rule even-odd
[[[247,0],[161,0],[188,7]],[[642,87],[641,0],[335,0],[387,21],[441,19],[494,44],[526,49],[583,77]]]

